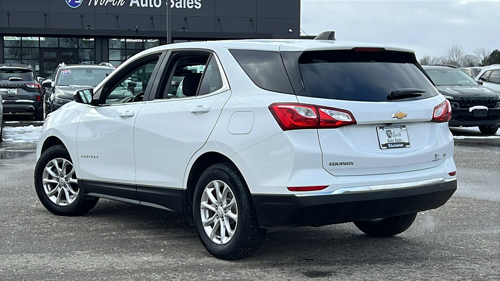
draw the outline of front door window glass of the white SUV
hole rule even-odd
[[[106,90],[105,103],[123,103],[142,101],[147,85],[151,80],[151,76],[159,60],[159,55],[153,55],[142,62],[138,62],[135,67],[128,70],[123,69],[125,73],[121,76],[114,86]]]

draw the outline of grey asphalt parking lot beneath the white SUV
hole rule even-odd
[[[194,227],[166,210],[101,199],[85,216],[49,213],[33,188],[35,144],[4,141],[0,280],[498,280],[500,138],[452,132],[458,189],[405,232],[285,229],[237,261],[210,256]]]

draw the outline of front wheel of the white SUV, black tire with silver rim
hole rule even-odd
[[[67,182],[65,187],[61,184],[64,182]],[[41,153],[34,170],[34,186],[43,206],[56,215],[83,215],[99,200],[99,198],[83,199],[83,192],[78,187],[71,157],[64,145],[52,146]]]

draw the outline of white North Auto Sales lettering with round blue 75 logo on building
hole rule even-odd
[[[77,8],[83,0],[65,0],[72,7]],[[88,0],[88,5],[94,6],[124,6],[128,3],[130,7],[161,7],[162,3],[170,8],[201,8],[201,0]]]

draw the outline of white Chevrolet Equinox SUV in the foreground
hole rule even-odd
[[[111,95],[133,78],[133,98]],[[450,105],[412,51],[335,40],[154,47],[50,113],[35,187],[52,213],[99,197],[184,213],[214,256],[267,230],[400,233],[456,189]]]

